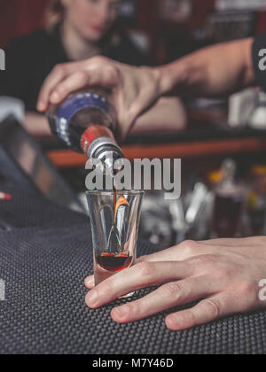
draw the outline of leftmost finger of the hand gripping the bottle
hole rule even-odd
[[[44,112],[47,110],[51,92],[53,89],[57,87],[60,81],[64,81],[66,76],[73,73],[74,71],[78,71],[81,68],[80,63],[67,63],[55,66],[54,69],[51,71],[51,74],[43,82],[43,87],[39,93],[38,102],[37,102],[37,109],[40,112]],[[55,102],[57,102],[57,97],[53,97]]]

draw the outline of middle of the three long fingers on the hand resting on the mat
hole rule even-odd
[[[173,306],[209,296],[211,291],[209,280],[204,276],[167,283],[144,298],[113,308],[111,316],[115,322],[135,322]]]

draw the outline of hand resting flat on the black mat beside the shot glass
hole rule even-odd
[[[98,308],[131,291],[159,286],[144,298],[113,308],[113,320],[127,323],[200,300],[198,305],[166,317],[166,325],[173,330],[260,309],[266,307],[259,296],[263,291],[260,283],[266,279],[265,247],[265,237],[184,242],[140,258],[137,265],[95,288],[90,276],[85,280],[91,289],[86,304]]]

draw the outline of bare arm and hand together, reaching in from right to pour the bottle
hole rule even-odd
[[[57,66],[40,92],[38,109],[69,93],[99,85],[112,90],[121,137],[162,96],[223,97],[254,84],[253,39],[222,43],[156,68],[132,67],[103,57]]]

